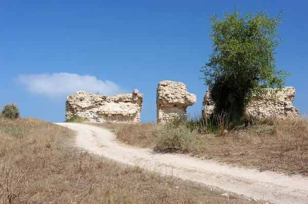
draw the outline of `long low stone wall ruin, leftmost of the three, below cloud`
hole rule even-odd
[[[140,122],[142,101],[143,94],[138,94],[138,89],[134,89],[132,94],[111,97],[80,91],[67,97],[65,116],[70,118],[77,114],[90,122]]]

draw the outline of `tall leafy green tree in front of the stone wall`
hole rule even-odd
[[[281,88],[285,85],[284,70],[276,67],[275,48],[281,38],[277,31],[282,22],[282,11],[277,17],[265,11],[240,11],[207,16],[212,22],[209,36],[213,39],[213,54],[201,67],[205,85],[211,90],[215,111],[225,111],[229,120],[236,122],[244,116],[245,105],[253,94],[265,94],[264,87]]]

